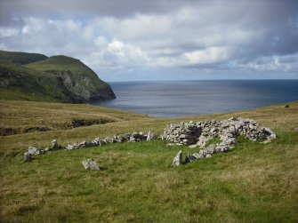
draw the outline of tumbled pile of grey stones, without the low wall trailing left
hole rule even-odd
[[[188,145],[191,148],[201,147],[194,154],[188,154],[182,162],[181,151],[174,157],[171,166],[181,163],[191,163],[199,158],[209,158],[216,153],[228,152],[235,147],[238,136],[245,136],[253,141],[264,139],[262,143],[268,143],[276,139],[277,135],[269,128],[264,128],[249,118],[230,118],[224,121],[212,120],[205,122],[179,123],[167,125],[163,139],[172,143],[168,146]],[[208,146],[210,139],[220,139],[221,142]]]

